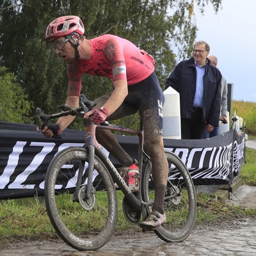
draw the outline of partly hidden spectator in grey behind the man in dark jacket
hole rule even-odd
[[[209,56],[208,59],[211,61],[211,65],[214,67],[217,67],[218,65],[218,59],[216,56]],[[221,77],[221,112],[220,112],[220,120],[224,120],[225,122],[228,122],[227,120],[227,94],[228,94],[228,85],[227,80],[225,77]],[[205,130],[204,132],[204,138],[211,138],[214,136],[217,136],[219,134],[219,127],[214,126],[213,130],[209,133]]]

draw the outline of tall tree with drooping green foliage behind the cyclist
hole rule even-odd
[[[217,12],[221,0],[1,0],[0,65],[15,74],[32,110],[56,111],[67,97],[66,63],[51,51],[44,32],[56,17],[72,14],[83,20],[86,38],[111,33],[152,54],[164,87],[176,65],[173,48],[179,58],[191,56],[195,6],[203,12],[209,3]],[[111,90],[109,79],[83,76],[82,92],[88,99]]]

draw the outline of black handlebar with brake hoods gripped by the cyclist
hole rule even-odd
[[[92,100],[86,99],[84,94],[79,95],[79,108],[70,108],[67,105],[61,105],[60,109],[62,110],[60,113],[47,115],[44,114],[42,109],[36,109],[36,122],[38,125],[38,129],[42,129],[45,125],[48,124],[50,119],[59,118],[61,116],[84,116],[88,111],[90,111],[94,106],[96,106],[96,102]],[[52,138],[60,139],[60,135],[53,135]]]

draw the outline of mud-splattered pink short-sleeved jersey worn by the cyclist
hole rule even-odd
[[[82,74],[109,77],[113,82],[125,79],[129,86],[143,81],[154,72],[152,56],[124,38],[103,35],[89,42],[92,58],[68,65],[68,95],[79,95]]]

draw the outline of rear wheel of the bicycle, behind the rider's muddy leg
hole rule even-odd
[[[172,195],[173,191],[180,191],[180,196],[164,202],[164,212],[167,223],[157,227],[154,232],[166,242],[184,241],[195,225],[196,220],[196,194],[185,164],[173,152],[164,151],[168,159],[169,174],[166,186],[166,195]],[[176,177],[176,179],[173,179]],[[143,178],[141,180],[141,195],[145,202],[154,200],[154,180],[151,175],[151,162],[144,164]],[[151,207],[149,212],[151,211]],[[148,212],[148,214],[149,214]]]

